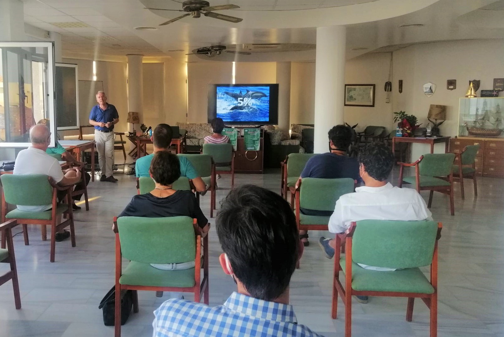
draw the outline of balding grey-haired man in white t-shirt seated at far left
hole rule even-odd
[[[30,128],[30,141],[32,146],[19,152],[14,164],[14,174],[45,174],[50,176],[59,186],[73,185],[81,180],[79,169],[71,168],[61,170],[56,158],[49,156],[45,150],[50,143],[51,132],[47,126],[38,124]],[[27,212],[48,211],[52,205],[23,206],[18,205],[18,210]],[[56,241],[61,241],[70,236],[68,231],[56,233]]]

